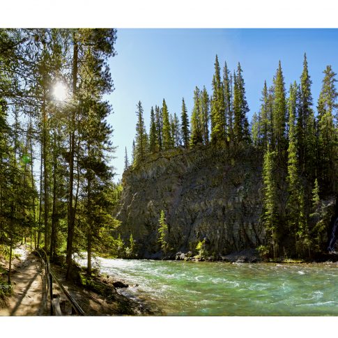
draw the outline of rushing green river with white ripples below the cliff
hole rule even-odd
[[[335,264],[98,259],[120,292],[168,316],[337,316]],[[83,261],[82,263],[85,263]]]

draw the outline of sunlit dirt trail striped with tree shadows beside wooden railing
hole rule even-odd
[[[22,246],[23,247],[23,246]],[[47,281],[40,260],[28,250],[20,248],[21,261],[15,260],[12,275],[13,294],[8,307],[0,309],[0,316],[48,316]]]

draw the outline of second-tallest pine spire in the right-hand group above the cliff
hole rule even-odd
[[[286,158],[286,93],[284,88],[284,77],[282,65],[279,61],[279,66],[273,81],[274,98],[272,106],[272,128],[275,139],[275,144],[272,144],[273,149],[278,152],[281,162]]]

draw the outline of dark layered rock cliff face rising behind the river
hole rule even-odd
[[[254,148],[199,146],[171,151],[123,174],[117,218],[125,239],[130,233],[139,257],[160,256],[158,220],[164,210],[171,253],[195,252],[206,239],[210,254],[260,245],[261,163]]]

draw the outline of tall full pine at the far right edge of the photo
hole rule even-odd
[[[337,89],[335,72],[331,66],[324,70],[323,84],[318,98],[318,178],[321,187],[328,193],[337,191],[337,171],[335,160],[337,154]]]

